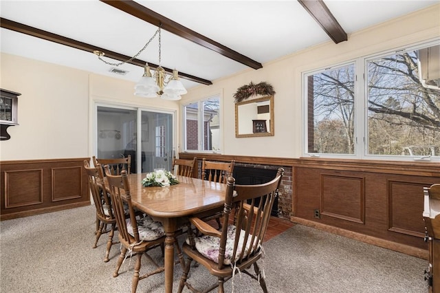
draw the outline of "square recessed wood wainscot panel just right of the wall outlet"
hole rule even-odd
[[[320,215],[365,224],[364,177],[321,174]]]

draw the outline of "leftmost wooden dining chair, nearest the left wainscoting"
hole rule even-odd
[[[96,237],[93,248],[97,247],[98,240],[102,234],[109,233],[109,239],[107,240],[104,257],[104,261],[107,262],[109,261],[111,246],[117,243],[113,242],[116,219],[113,217],[113,210],[111,208],[111,202],[105,188],[105,183],[103,180],[104,175],[101,166],[98,164],[98,166],[91,167],[89,161],[85,160],[84,168],[89,180],[89,188],[96,208]],[[111,225],[110,230],[107,230],[108,225]]]

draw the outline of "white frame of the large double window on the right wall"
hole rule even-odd
[[[411,155],[371,155],[369,154],[369,96],[368,96],[368,63],[369,61],[391,56],[393,54],[401,54],[408,51],[419,50],[423,47],[439,45],[440,39],[430,41],[421,41],[410,45],[393,48],[390,50],[382,50],[373,54],[351,58],[340,63],[332,63],[331,65],[320,66],[301,73],[301,95],[303,102],[303,156],[310,158],[339,158],[339,159],[355,159],[355,160],[394,160],[394,161],[410,161],[410,162],[440,162],[440,155],[431,158],[423,158]],[[309,107],[308,107],[308,90],[307,78],[314,74],[320,74],[325,70],[347,66],[353,63],[355,66],[355,98],[354,98],[354,153],[353,154],[336,154],[336,153],[310,153],[309,152]]]

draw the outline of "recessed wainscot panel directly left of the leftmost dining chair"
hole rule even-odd
[[[52,168],[52,202],[81,198],[82,166]]]

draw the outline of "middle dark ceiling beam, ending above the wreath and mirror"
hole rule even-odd
[[[114,8],[118,8],[119,10],[122,10],[128,14],[131,14],[133,15],[133,17],[142,19],[143,21],[151,23],[157,27],[160,26],[162,29],[168,32],[176,34],[177,36],[181,36],[184,39],[192,41],[197,45],[201,45],[210,50],[213,50],[214,52],[217,52],[225,57],[228,57],[248,67],[251,67],[253,69],[259,69],[263,67],[261,63],[256,62],[251,58],[240,54],[239,52],[231,50],[230,48],[225,47],[224,45],[221,45],[220,43],[217,43],[216,41],[213,41],[212,39],[209,39],[206,36],[203,36],[193,30],[190,30],[189,28],[186,28],[183,25],[176,23],[171,19],[166,18],[161,14],[158,14],[153,10],[146,8],[145,6],[140,5],[139,3],[136,3],[135,1],[131,1],[131,0],[129,1],[100,0],[100,1],[109,4],[109,6],[112,6]]]

